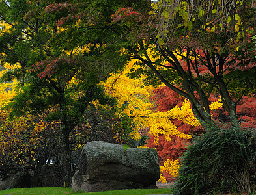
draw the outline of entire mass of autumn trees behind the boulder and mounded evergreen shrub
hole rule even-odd
[[[51,160],[69,187],[105,140],[156,148],[173,181],[193,136],[255,129],[255,2],[186,2],[1,1],[1,176],[40,186]]]

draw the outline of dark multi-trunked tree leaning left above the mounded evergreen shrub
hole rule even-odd
[[[113,15],[124,38],[134,43],[127,47],[132,58],[148,67],[133,75],[146,75],[149,82],[160,81],[189,99],[206,129],[216,127],[209,98],[217,92],[229,121],[238,127],[236,105],[255,93],[255,2],[157,1],[147,13],[120,8]]]

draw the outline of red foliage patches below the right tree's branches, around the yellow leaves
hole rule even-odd
[[[184,97],[178,95],[176,92],[173,92],[173,90],[170,90],[167,88],[167,86],[154,90],[154,96],[151,98],[152,101],[156,102],[153,110],[157,111],[171,110],[176,105],[181,107],[184,99]],[[218,96],[210,96],[210,103],[216,101],[217,99]],[[236,110],[241,127],[256,127],[256,97],[245,96],[238,103]],[[220,123],[226,124],[229,122],[228,114],[224,109],[218,109],[214,111],[213,118]],[[200,135],[203,133],[203,129],[201,129],[201,127],[192,127],[180,122],[180,120],[172,120],[172,122],[175,123],[175,125],[178,127],[178,131],[182,133],[188,133],[192,135]],[[171,139],[171,142],[167,142],[164,135],[160,135],[158,145],[156,145],[154,143],[154,136],[149,135],[149,140],[147,141],[146,146],[150,148],[156,148],[158,151],[160,165],[163,165],[167,159],[175,160],[180,158],[182,152],[186,150],[186,146],[190,143],[190,140],[178,138],[177,136],[172,136]],[[164,173],[164,177],[168,181],[173,181],[171,175],[167,173]]]

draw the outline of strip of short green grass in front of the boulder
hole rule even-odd
[[[92,195],[141,195],[141,194],[169,194],[169,188],[160,188],[154,190],[115,190],[107,192],[72,192],[71,188],[62,188],[62,187],[42,187],[42,188],[14,188],[10,190],[0,191],[0,195],[7,194],[21,194],[21,195],[44,195],[44,194],[92,194]]]

